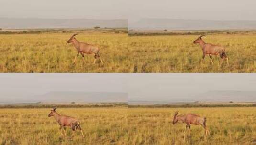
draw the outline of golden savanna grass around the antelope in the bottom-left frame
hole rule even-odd
[[[71,138],[62,137],[59,125],[48,118],[50,108],[0,109],[1,145],[127,145],[127,107],[58,108],[59,114],[76,117],[85,137],[79,131]]]

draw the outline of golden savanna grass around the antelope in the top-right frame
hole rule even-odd
[[[133,72],[256,72],[256,34],[209,34],[203,37],[208,43],[222,45],[229,57],[219,66],[220,57],[213,56],[214,64],[206,55],[200,64],[202,50],[193,44],[200,34],[132,35],[128,48]]]

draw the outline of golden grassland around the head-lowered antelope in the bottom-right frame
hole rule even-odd
[[[185,124],[172,124],[173,114],[199,114],[207,118],[210,136],[202,126],[191,125],[183,141]],[[129,145],[254,145],[256,108],[129,108]]]

